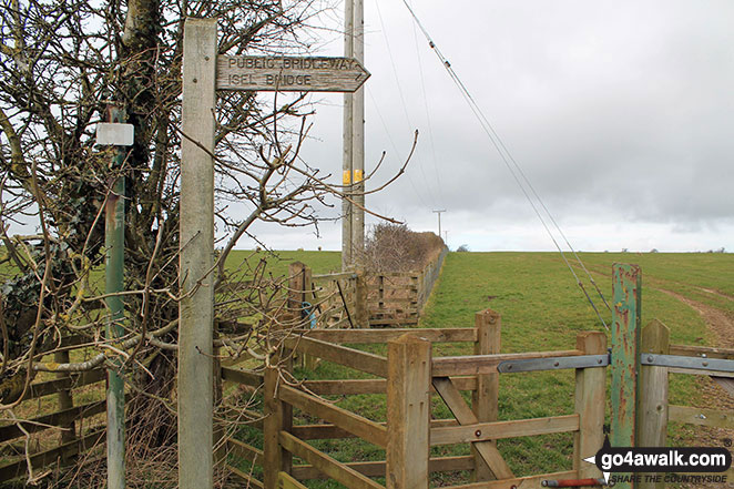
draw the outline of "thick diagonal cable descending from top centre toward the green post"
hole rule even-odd
[[[573,249],[573,247],[570,245],[568,238],[565,237],[565,235],[563,234],[563,232],[560,231],[560,226],[558,225],[558,223],[557,223],[555,220],[553,218],[552,214],[550,213],[550,211],[548,210],[548,207],[547,207],[546,204],[543,203],[542,198],[540,197],[540,195],[538,194],[538,192],[536,192],[536,190],[534,190],[534,187],[532,186],[532,184],[530,184],[530,180],[526,176],[524,172],[522,172],[522,170],[520,169],[520,165],[518,164],[518,162],[512,157],[512,154],[510,153],[510,151],[507,149],[507,146],[506,146],[504,143],[502,142],[502,139],[499,136],[499,134],[497,133],[497,131],[495,130],[495,128],[492,126],[492,124],[489,122],[489,119],[487,119],[487,116],[486,116],[485,113],[482,112],[481,108],[479,106],[479,104],[477,103],[477,101],[473,99],[473,96],[471,95],[471,93],[469,92],[469,90],[467,89],[467,86],[463,84],[463,82],[461,81],[461,79],[459,78],[459,75],[453,71],[453,69],[451,68],[451,63],[448,61],[448,59],[444,55],[444,53],[441,53],[441,51],[439,50],[439,48],[436,45],[436,43],[434,42],[434,40],[432,40],[432,38],[430,37],[430,34],[428,33],[428,31],[426,30],[426,28],[425,28],[425,27],[422,26],[422,23],[420,22],[420,19],[418,19],[418,16],[416,16],[416,12],[414,12],[412,8],[410,7],[410,4],[408,4],[407,0],[402,0],[402,3],[406,6],[406,8],[408,9],[408,11],[410,12],[410,16],[412,17],[415,23],[418,26],[418,28],[421,30],[421,32],[424,33],[424,35],[425,35],[426,39],[428,40],[428,44],[429,44],[430,48],[434,50],[434,52],[436,53],[436,55],[438,57],[438,59],[441,61],[441,64],[444,65],[444,68],[445,68],[446,71],[448,72],[449,77],[451,78],[451,80],[453,80],[453,83],[457,85],[457,88],[458,88],[459,91],[461,92],[462,96],[465,98],[465,100],[466,100],[467,103],[469,104],[469,108],[471,109],[471,111],[473,112],[475,116],[476,116],[477,120],[479,121],[479,124],[482,126],[482,130],[485,131],[485,133],[487,134],[487,136],[488,136],[489,140],[491,141],[492,145],[495,146],[495,149],[496,149],[497,152],[499,153],[499,155],[500,155],[502,162],[504,163],[504,165],[507,166],[508,171],[509,171],[510,174],[512,175],[512,179],[514,180],[514,182],[518,184],[518,186],[519,186],[520,190],[522,191],[522,193],[523,193],[526,200],[528,201],[528,203],[529,203],[530,206],[532,207],[533,212],[536,213],[536,216],[537,216],[538,220],[541,222],[543,228],[546,230],[546,233],[548,234],[548,236],[551,238],[551,241],[552,241],[553,244],[555,245],[555,248],[558,249],[558,252],[561,254],[561,257],[563,258],[563,262],[565,263],[565,266],[567,266],[567,267],[569,268],[569,271],[571,272],[571,275],[573,275],[573,278],[575,279],[575,282],[577,282],[577,284],[579,285],[579,287],[581,288],[581,291],[583,292],[584,296],[587,297],[587,300],[589,300],[589,304],[590,304],[591,307],[594,309],[594,313],[597,313],[597,316],[599,317],[599,320],[604,325],[604,327],[605,327],[606,329],[609,329],[609,326],[606,325],[606,322],[604,322],[603,317],[602,317],[601,314],[599,313],[599,309],[597,308],[597,305],[594,304],[594,302],[591,299],[591,296],[590,296],[589,293],[587,292],[587,288],[584,287],[583,283],[581,282],[581,279],[580,279],[579,276],[577,275],[575,271],[573,269],[573,267],[572,267],[571,264],[569,263],[568,258],[565,257],[565,254],[563,253],[563,249],[562,249],[561,246],[558,244],[558,241],[555,241],[555,237],[553,236],[553,233],[552,233],[552,232],[550,231],[550,228],[548,227],[548,224],[546,223],[546,220],[542,217],[540,211],[538,210],[538,206],[536,205],[536,203],[533,202],[533,200],[530,197],[530,194],[528,193],[528,190],[526,189],[526,186],[522,184],[522,181],[526,182],[526,184],[527,184],[528,187],[531,190],[531,192],[532,192],[533,196],[536,197],[536,200],[540,203],[540,205],[542,206],[542,208],[543,208],[543,211],[546,212],[546,214],[550,217],[550,221],[554,224],[555,228],[561,233],[561,235],[562,235],[563,238],[565,240],[565,243],[569,245],[569,247],[570,247],[571,251],[573,252],[573,255],[575,256],[577,261],[581,264],[581,266],[583,267],[584,272],[587,272],[587,275],[588,275],[589,278],[591,279],[591,283],[594,285],[594,287],[597,287],[597,292],[598,292],[599,295],[601,296],[602,300],[604,300],[604,305],[606,305],[606,307],[609,308],[609,304],[606,303],[606,299],[604,299],[604,296],[602,295],[601,291],[600,291],[599,287],[597,286],[597,284],[595,284],[595,282],[593,281],[593,278],[591,278],[591,274],[589,273],[589,271],[587,269],[587,267],[583,266],[583,263],[582,263],[581,259],[579,258],[579,256],[578,256],[578,254],[575,253],[575,251]],[[513,170],[512,166],[514,166],[514,170]],[[517,172],[516,172],[516,170],[517,170]],[[522,177],[522,180],[518,176],[518,174]]]

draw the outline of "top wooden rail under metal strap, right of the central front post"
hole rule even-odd
[[[458,375],[496,374],[497,365],[507,360],[524,360],[532,358],[573,357],[582,355],[578,349],[560,352],[530,352],[502,355],[465,355],[461,357],[434,358],[434,377],[452,377]]]

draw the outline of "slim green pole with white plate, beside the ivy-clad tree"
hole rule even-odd
[[[110,122],[124,122],[124,110],[109,109]],[[125,147],[115,146],[113,171],[122,166]],[[105,207],[104,245],[106,247],[105,293],[115,294],[124,288],[125,254],[125,181],[116,177]],[[124,335],[121,322],[125,306],[121,295],[109,296],[106,306],[110,317],[106,324],[106,338],[114,342]],[[113,368],[108,369],[108,488],[125,487],[125,386],[122,377]]]

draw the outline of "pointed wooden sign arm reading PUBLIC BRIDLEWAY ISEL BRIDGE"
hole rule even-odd
[[[354,92],[368,78],[351,58],[221,55],[216,63],[218,90]]]

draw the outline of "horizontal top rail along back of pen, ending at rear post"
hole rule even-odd
[[[473,343],[477,340],[477,329],[475,328],[297,329],[294,333],[303,334],[312,339],[349,344],[387,343],[406,333],[426,338],[431,343]]]

